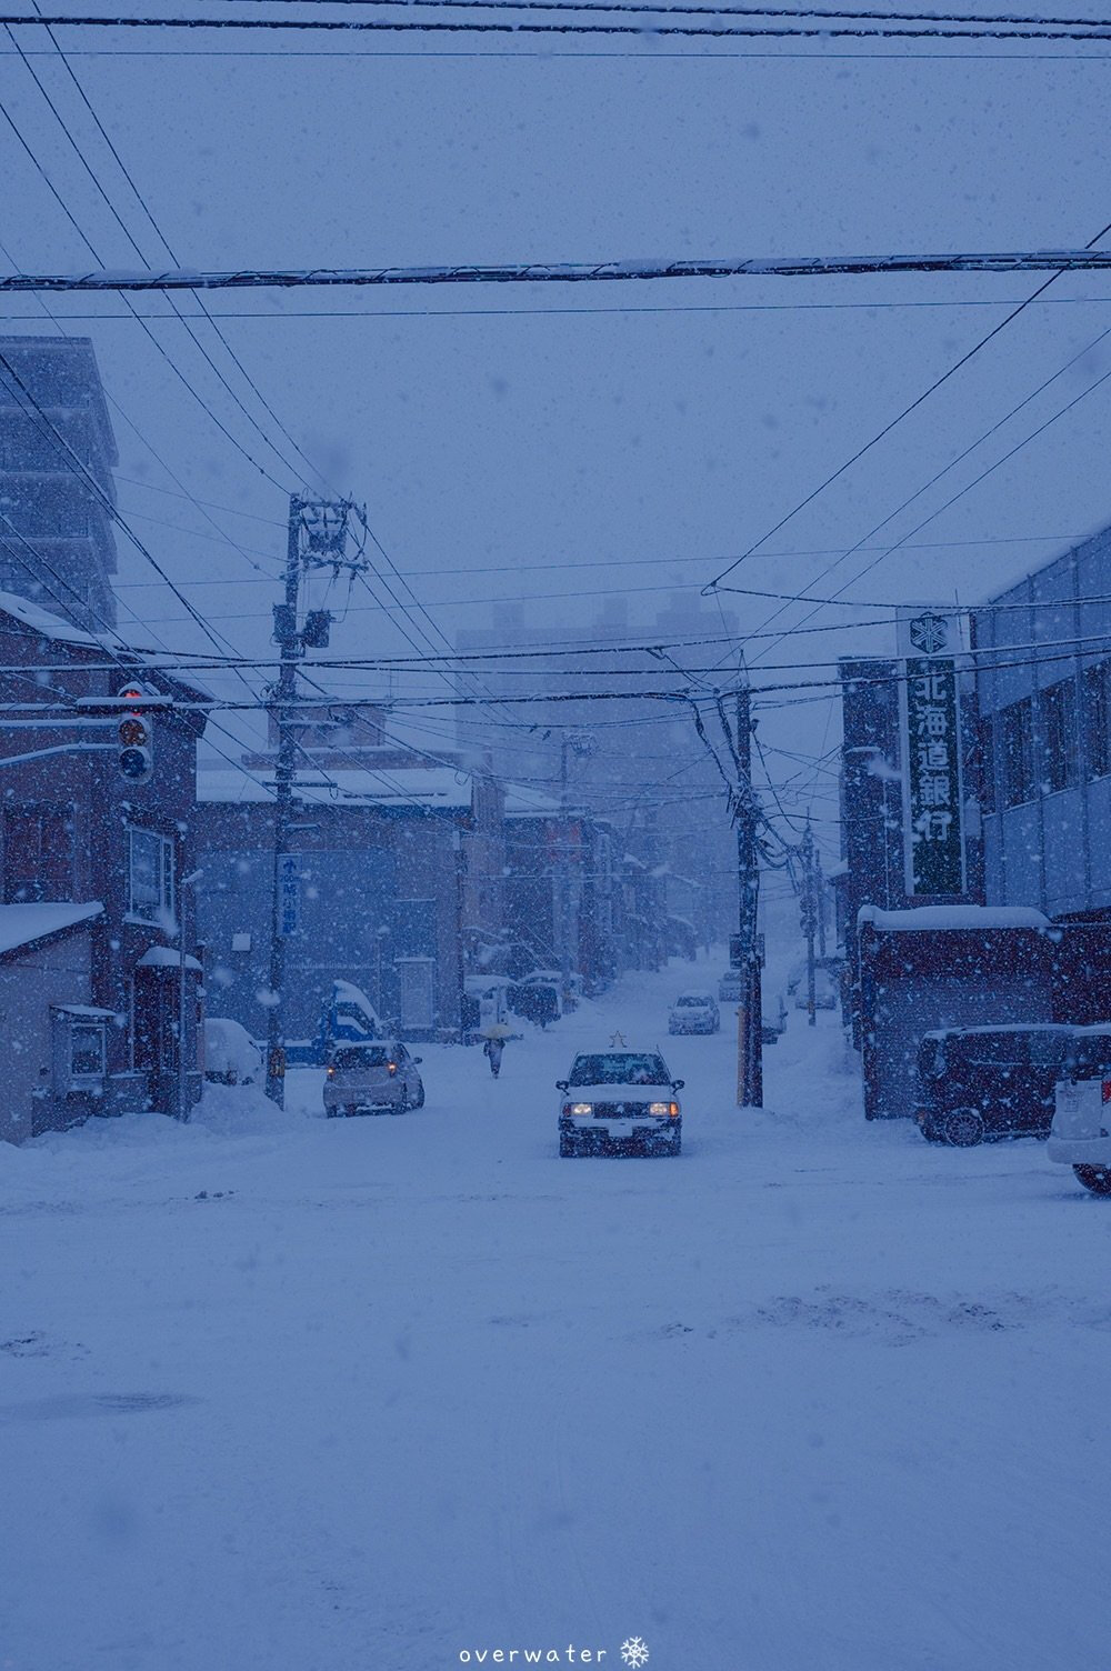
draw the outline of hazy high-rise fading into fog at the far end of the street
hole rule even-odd
[[[682,672],[687,660],[705,667],[710,657],[727,683],[738,638],[730,610],[685,592],[675,592],[645,625],[630,623],[627,600],[611,597],[593,620],[576,623],[526,620],[521,605],[495,603],[490,627],[456,635],[461,655],[518,653],[503,667],[479,663],[474,672],[458,673],[459,695],[484,702],[525,693],[553,697],[501,709],[493,719],[490,707],[461,709],[456,724],[463,747],[481,739],[495,770],[558,805],[565,792],[563,739],[586,739],[586,749],[573,744],[566,750],[566,794],[573,805],[605,820],[618,867],[630,857],[652,872],[660,921],[652,924],[652,934],[645,929],[645,944],[658,946],[635,954],[648,966],[667,956],[668,946],[720,941],[735,926],[737,839],[722,779],[698,740],[688,705],[655,697],[680,695],[693,683]],[[623,648],[655,642],[668,645],[673,660]],[[573,700],[576,692],[591,690],[620,690],[630,700]],[[643,700],[635,700],[640,693]]]

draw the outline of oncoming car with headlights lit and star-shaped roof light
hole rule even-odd
[[[683,1081],[657,1051],[606,1049],[575,1058],[566,1079],[556,1079],[560,1155],[643,1151],[678,1155]]]

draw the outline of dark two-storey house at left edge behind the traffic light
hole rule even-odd
[[[8,593],[0,593],[0,902],[17,912],[15,926],[20,914],[27,922],[47,912],[50,922],[50,909],[74,907],[70,927],[87,927],[72,934],[72,949],[79,937],[89,941],[89,964],[72,968],[68,998],[57,966],[38,957],[37,936],[28,931],[18,942],[35,952],[18,1024],[38,1056],[43,1039],[52,1041],[50,1058],[35,1068],[42,1095],[33,1120],[20,1111],[18,1135],[70,1125],[90,1110],[184,1115],[200,1091],[200,964],[182,879],[192,867],[207,695]],[[152,698],[144,714],[149,772],[127,777],[115,698],[135,680]],[[28,1006],[38,1014],[33,1024]],[[47,1011],[62,1019],[47,1024]],[[95,1074],[67,1074],[63,1033],[70,1066],[92,1061],[90,1034],[99,1034]],[[72,1078],[84,1100],[72,1100]]]

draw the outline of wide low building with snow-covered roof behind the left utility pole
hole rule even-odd
[[[209,1011],[267,1028],[274,901],[272,760],[197,780],[199,939]],[[342,764],[336,764],[341,759]],[[336,979],[411,1039],[453,1039],[463,981],[501,931],[501,800],[451,767],[358,769],[314,750],[294,779],[282,861],[284,1033],[316,1038]]]

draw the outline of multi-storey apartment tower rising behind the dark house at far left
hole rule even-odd
[[[90,339],[0,336],[0,590],[115,625],[117,461]]]

